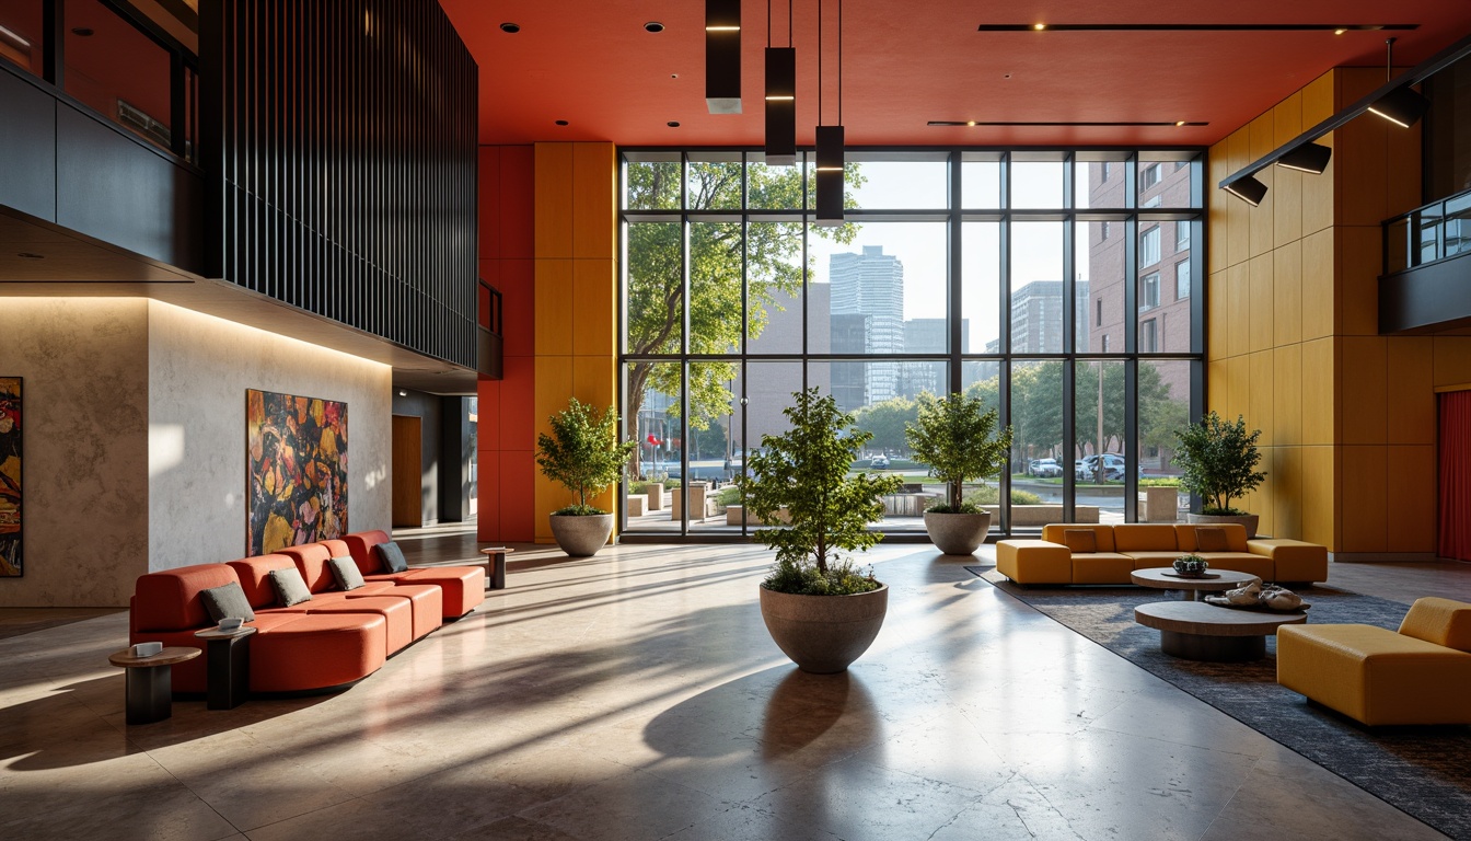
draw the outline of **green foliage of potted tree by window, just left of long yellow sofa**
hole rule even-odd
[[[919,395],[919,411],[915,421],[905,426],[905,439],[915,458],[933,467],[944,482],[946,504],[931,511],[978,513],[962,501],[964,485],[993,476],[1006,464],[1011,451],[1012,430],[1006,427],[997,434],[996,418],[996,409],[986,411],[980,398],[961,392],[944,398]]]

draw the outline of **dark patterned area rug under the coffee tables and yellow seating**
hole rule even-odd
[[[1365,728],[1277,683],[1277,639],[1256,663],[1193,663],[1159,651],[1159,632],[1134,623],[1134,607],[1171,598],[1143,588],[1021,588],[971,569],[1109,651],[1297,751],[1452,838],[1471,840],[1471,728]],[[1361,623],[1395,630],[1399,602],[1317,586],[1299,591],[1311,624]],[[1471,700],[1468,700],[1471,703]]]

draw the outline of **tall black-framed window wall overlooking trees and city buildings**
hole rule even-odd
[[[943,496],[903,427],[955,390],[1015,432],[966,489],[996,530],[1143,520],[1203,404],[1200,156],[850,150],[846,224],[819,227],[811,153],[624,150],[625,532],[758,527],[730,483],[803,387],[874,433],[853,470],[905,477],[886,532]]]

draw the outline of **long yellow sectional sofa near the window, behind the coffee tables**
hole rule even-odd
[[[1068,548],[1066,533],[1080,529],[1093,532],[1094,551]],[[1225,548],[1200,551],[1197,529],[1221,529]],[[1186,554],[1203,557],[1211,569],[1247,573],[1265,582],[1328,580],[1327,548],[1287,539],[1247,541],[1246,529],[1236,523],[1050,523],[1043,526],[1040,541],[997,542],[996,571],[1024,585],[1127,585],[1128,573],[1168,567]]]

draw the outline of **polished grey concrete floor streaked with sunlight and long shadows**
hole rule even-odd
[[[509,589],[330,697],[129,728],[125,614],[0,639],[0,838],[1440,837],[928,546],[868,555],[884,630],[821,678],[762,627],[765,549],[521,549]],[[1465,597],[1468,571],[1334,583]]]

